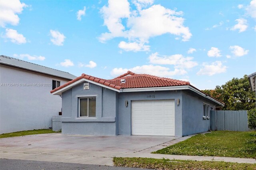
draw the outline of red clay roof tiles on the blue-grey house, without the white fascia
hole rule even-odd
[[[130,75],[130,76],[127,76],[127,75]],[[128,71],[127,73],[110,80],[100,79],[90,75],[82,74],[80,77],[77,77],[76,79],[69,81],[68,83],[61,85],[60,87],[57,87],[56,89],[52,90],[51,93],[59,89],[62,89],[63,87],[66,87],[67,85],[70,85],[71,83],[74,83],[75,81],[78,81],[82,78],[88,79],[96,83],[100,83],[102,85],[106,85],[108,87],[112,87],[118,90],[129,89],[129,88],[142,88],[142,87],[168,87],[168,86],[190,85],[188,81],[180,81],[176,79],[157,77],[157,76],[148,75],[148,74],[135,74],[135,73],[132,73],[131,71]],[[125,79],[126,83],[121,83],[121,79]]]

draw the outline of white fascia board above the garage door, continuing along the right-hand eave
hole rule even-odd
[[[120,92],[139,92],[139,91],[168,91],[168,90],[191,90],[199,95],[218,103],[221,106],[224,106],[223,103],[220,103],[216,99],[202,93],[202,91],[195,89],[189,85],[182,85],[182,86],[171,86],[171,87],[146,87],[146,88],[132,88],[132,89],[120,89]]]

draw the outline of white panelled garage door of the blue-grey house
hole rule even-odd
[[[174,100],[132,101],[133,135],[175,135]]]

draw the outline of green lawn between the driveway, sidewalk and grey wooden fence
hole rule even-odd
[[[256,131],[213,131],[152,152],[154,154],[256,158]]]

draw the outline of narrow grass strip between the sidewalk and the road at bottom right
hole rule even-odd
[[[255,170],[256,164],[219,161],[169,160],[154,158],[114,158],[114,166],[157,170]]]

